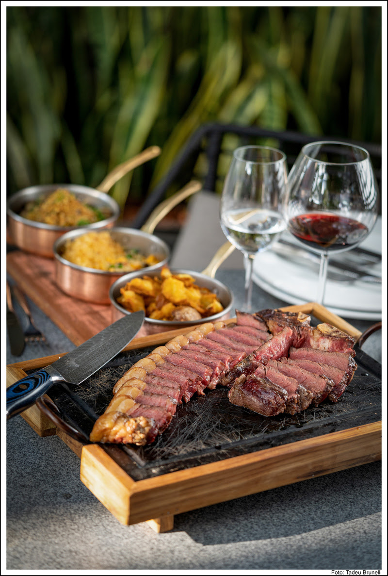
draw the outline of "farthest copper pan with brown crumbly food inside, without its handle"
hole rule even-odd
[[[54,257],[54,242],[62,234],[85,227],[112,228],[119,216],[115,199],[77,184],[31,186],[7,202],[10,241],[25,252],[48,258]]]

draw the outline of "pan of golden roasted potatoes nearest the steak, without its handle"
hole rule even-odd
[[[159,284],[156,291],[155,281]],[[203,297],[196,296],[198,289]],[[109,298],[112,322],[136,309],[144,310],[146,317],[138,336],[225,320],[233,305],[233,294],[222,282],[202,272],[169,270],[166,265],[154,272],[139,270],[122,276],[112,284]]]

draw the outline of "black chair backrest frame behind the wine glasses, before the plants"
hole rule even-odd
[[[174,184],[184,185],[189,180],[196,179],[203,183],[204,190],[219,192],[233,150],[238,146],[253,144],[273,146],[286,153],[290,169],[301,147],[319,140],[353,143],[368,150],[381,189],[381,146],[378,144],[322,135],[311,136],[291,131],[275,132],[256,126],[204,124],[194,132],[169,172],[144,200],[131,226],[140,228]]]

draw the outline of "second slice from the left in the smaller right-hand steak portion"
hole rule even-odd
[[[272,363],[272,361],[271,361]],[[254,372],[254,376],[260,378],[267,377],[274,384],[282,386],[287,391],[288,397],[286,401],[286,412],[287,414],[295,414],[295,412],[300,412],[306,410],[313,401],[313,393],[310,392],[303,386],[299,384],[295,378],[286,376],[283,372],[280,372],[275,366],[267,366],[259,364]]]

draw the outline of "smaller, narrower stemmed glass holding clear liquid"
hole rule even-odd
[[[252,269],[257,252],[271,248],[286,228],[283,199],[286,154],[268,146],[234,150],[220,201],[220,224],[227,239],[244,254],[246,312],[252,311]]]

